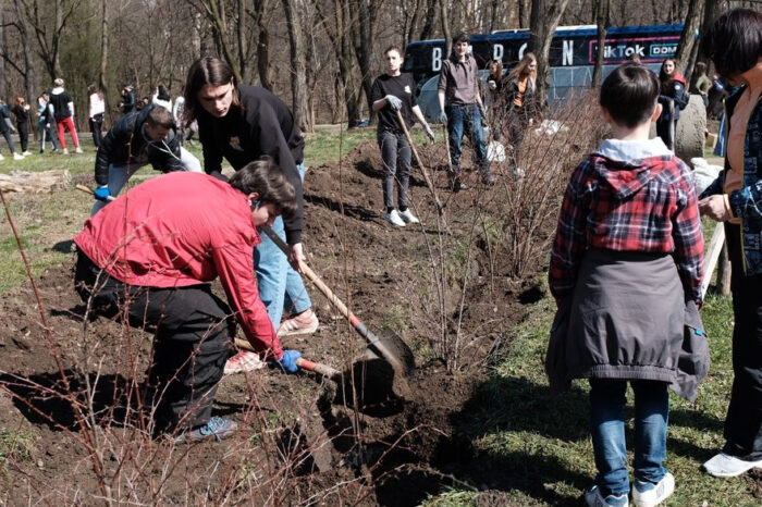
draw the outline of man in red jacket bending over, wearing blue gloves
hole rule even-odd
[[[211,417],[235,316],[265,360],[296,372],[300,354],[283,350],[254,275],[257,226],[296,212],[294,187],[270,160],[230,182],[170,173],[131,189],[85,222],[75,238],[76,289],[90,308],[156,326],[149,382],[160,395],[156,432],[177,441],[222,438],[234,421]],[[211,292],[220,276],[231,308]],[[126,300],[125,300],[126,299]]]

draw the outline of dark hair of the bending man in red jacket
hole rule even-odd
[[[294,186],[270,157],[244,165],[231,176],[229,183],[246,195],[256,191],[260,202],[274,205],[275,210],[286,219],[296,214]]]

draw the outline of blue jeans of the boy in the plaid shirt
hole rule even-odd
[[[669,395],[665,382],[630,381],[635,392],[635,479],[659,482],[666,474]],[[598,475],[604,496],[629,493],[625,404],[627,381],[590,380],[590,425]]]

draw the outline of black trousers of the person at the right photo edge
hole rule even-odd
[[[762,275],[743,275],[740,227],[725,224],[733,275],[733,391],[725,419],[725,453],[762,459]]]

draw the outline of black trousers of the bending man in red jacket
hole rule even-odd
[[[113,318],[128,304],[132,326],[156,327],[148,379],[156,392],[156,431],[207,423],[235,336],[232,312],[211,287],[125,286],[82,252],[74,283],[83,300],[91,297],[97,313]]]

